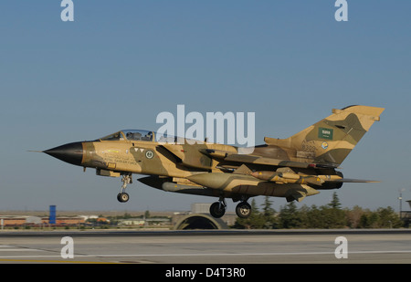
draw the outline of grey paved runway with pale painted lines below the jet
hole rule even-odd
[[[410,264],[411,230],[3,231],[0,263]]]

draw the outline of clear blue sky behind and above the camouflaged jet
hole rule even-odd
[[[409,1],[348,1],[348,22],[335,21],[334,1],[73,2],[74,22],[61,21],[58,0],[0,3],[0,210],[214,202],[134,181],[120,204],[119,179],[27,152],[157,130],[157,114],[177,104],[255,112],[256,143],[289,137],[332,108],[384,107],[342,163],[346,177],[382,183],[344,184],[301,204],[328,204],[334,191],[347,207],[397,210],[399,189],[411,199]]]

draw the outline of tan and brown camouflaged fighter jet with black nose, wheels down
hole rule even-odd
[[[266,195],[301,201],[323,189],[341,188],[342,183],[372,181],[346,179],[336,171],[361,140],[380,120],[385,109],[350,106],[332,110],[332,115],[287,139],[266,137],[250,154],[239,148],[208,142],[177,142],[154,131],[118,131],[95,141],[72,142],[44,151],[61,161],[96,169],[97,175],[121,177],[120,202],[132,174],[149,176],[141,183],[167,192],[218,197],[210,214],[225,214],[226,198],[238,202],[236,213],[251,214],[248,199]]]

